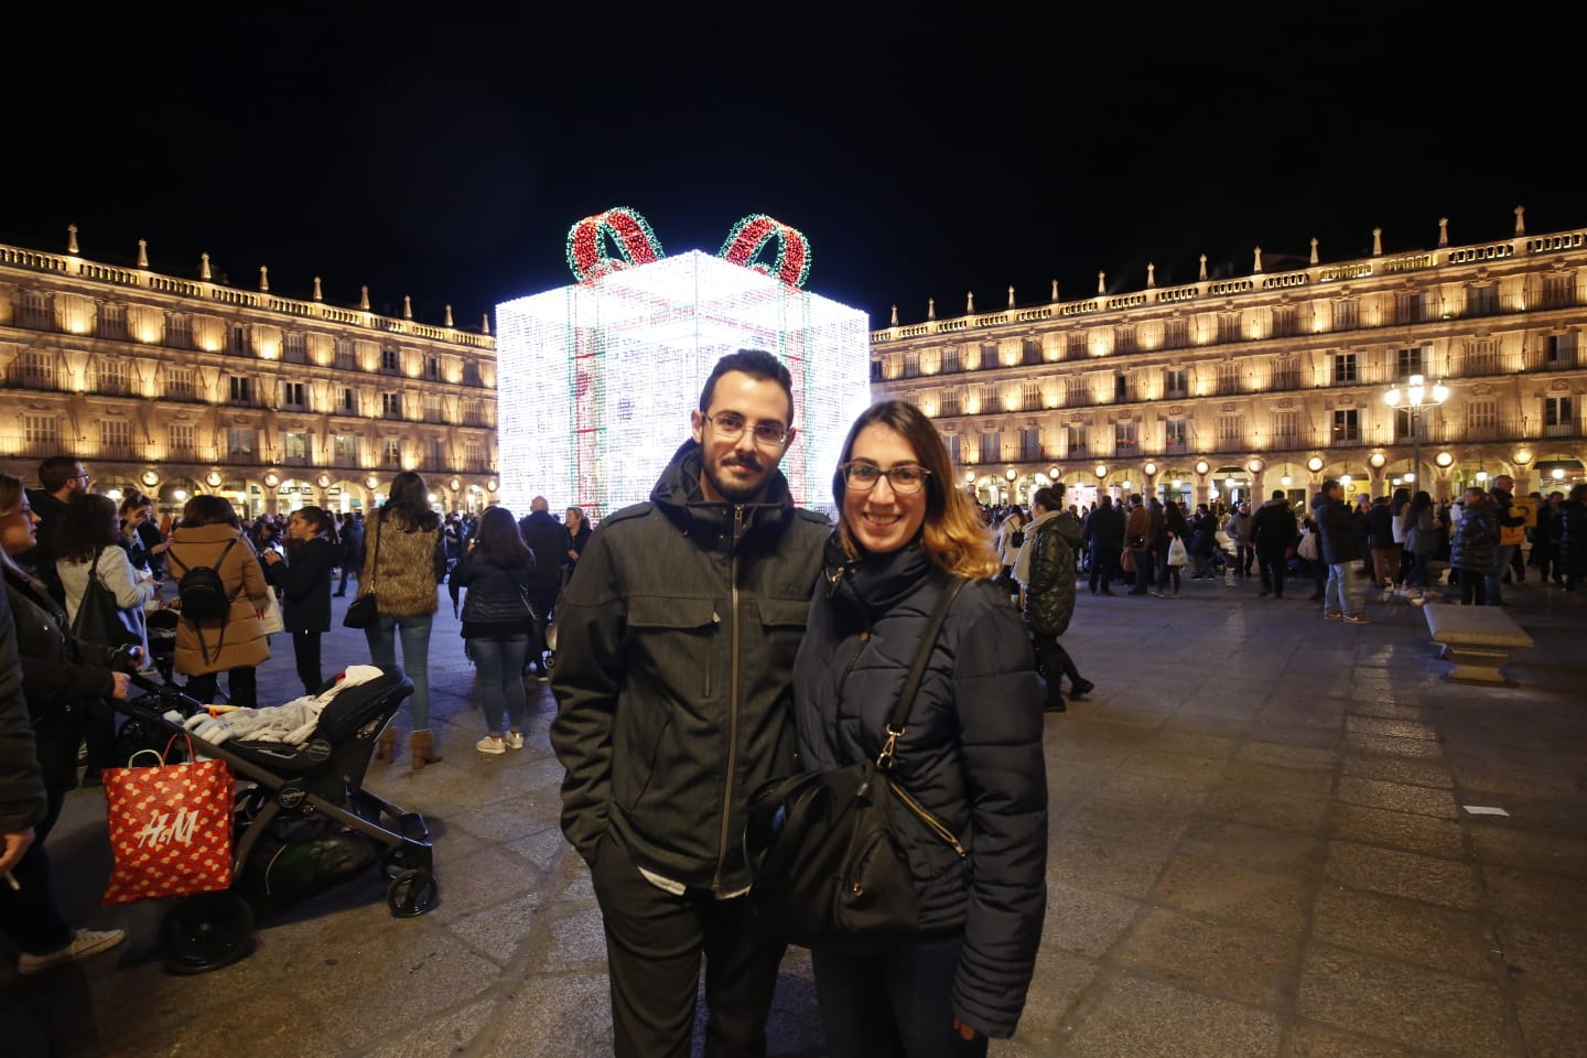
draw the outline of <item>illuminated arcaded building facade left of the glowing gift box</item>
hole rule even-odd
[[[160,511],[370,508],[417,470],[438,509],[497,492],[495,339],[446,324],[0,246],[0,470],[76,455],[90,487]],[[489,324],[489,320],[486,320]]]

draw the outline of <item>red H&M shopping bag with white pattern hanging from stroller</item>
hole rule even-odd
[[[102,904],[213,893],[232,887],[232,769],[224,760],[106,768],[105,820],[116,860]],[[136,753],[133,760],[136,760]]]

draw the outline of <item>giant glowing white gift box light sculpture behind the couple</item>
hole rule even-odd
[[[522,517],[543,495],[600,517],[647,500],[716,362],[767,349],[794,376],[782,473],[795,503],[830,511],[843,438],[870,404],[867,316],[767,268],[628,249],[640,263],[598,260],[582,282],[497,306],[501,503]]]

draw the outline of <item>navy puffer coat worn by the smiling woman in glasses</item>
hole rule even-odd
[[[828,566],[830,587],[811,603],[794,665],[803,768],[876,758],[946,582],[917,544]],[[1014,1031],[1041,941],[1041,688],[1019,614],[990,581],[966,584],[909,711],[893,774],[960,836],[968,858],[897,801],[892,822],[914,872],[922,931],[965,934],[954,1014],[989,1036]]]

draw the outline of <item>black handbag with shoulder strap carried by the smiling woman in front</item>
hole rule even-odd
[[[744,858],[755,879],[749,899],[789,944],[859,955],[916,933],[914,876],[887,815],[890,799],[965,855],[954,833],[890,774],[936,636],[963,585],[955,577],[943,588],[874,761],[773,779],[749,798]]]

